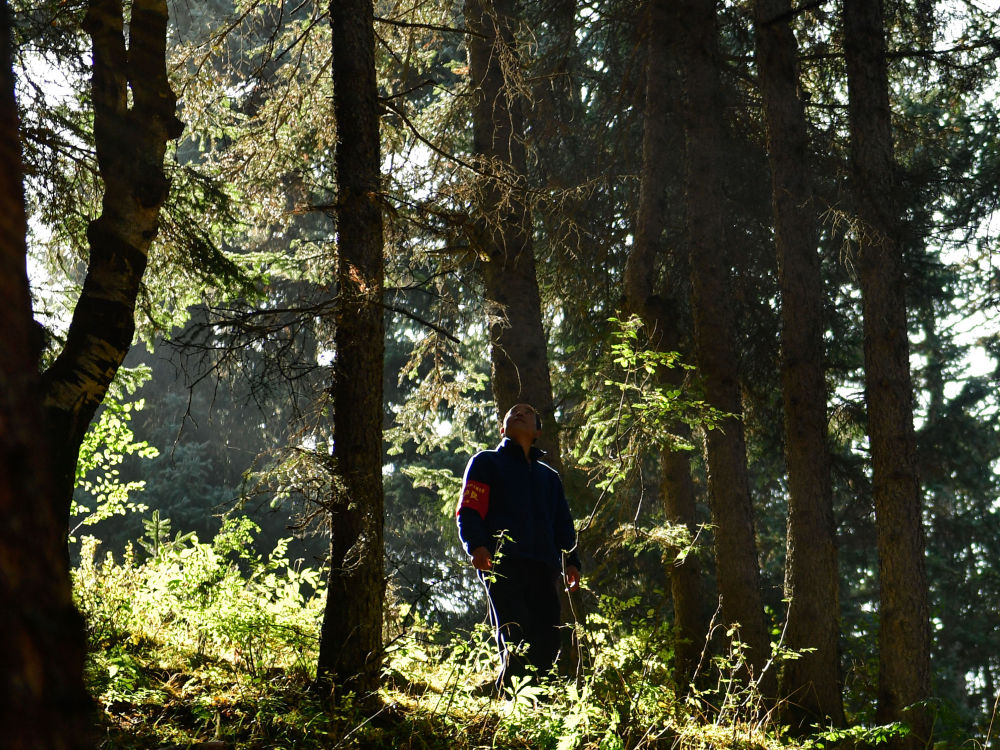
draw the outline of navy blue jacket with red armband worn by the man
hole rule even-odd
[[[486,547],[495,555],[505,532],[510,538],[502,544],[503,556],[538,560],[561,570],[565,551],[567,565],[580,567],[562,480],[538,460],[543,455],[533,447],[528,460],[520,445],[504,438],[496,450],[480,451],[469,460],[456,511],[466,552]]]

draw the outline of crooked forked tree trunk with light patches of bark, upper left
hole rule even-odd
[[[87,229],[90,260],[66,345],[42,376],[56,513],[64,526],[80,443],[132,345],[135,301],[169,189],[163,156],[183,129],[167,80],[166,1],[132,3],[127,49],[121,0],[92,0],[84,29],[93,40],[94,141],[104,199]]]

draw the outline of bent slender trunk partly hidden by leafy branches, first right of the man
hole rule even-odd
[[[642,172],[639,182],[639,210],[635,239],[625,264],[625,298],[630,311],[638,314],[660,351],[677,351],[681,344],[678,315],[672,300],[656,289],[657,255],[665,220],[665,200],[671,173],[680,171],[675,143],[671,142],[669,117],[676,92],[671,42],[677,18],[671,0],[650,0],[647,18],[646,107],[642,137]],[[670,167],[674,167],[671,169]],[[679,387],[682,370],[664,374],[664,385]],[[687,429],[676,423],[671,431]],[[693,534],[697,530],[694,483],[686,451],[664,448],[661,453],[660,496],[664,516]],[[708,633],[707,607],[702,591],[701,571],[696,555],[668,565],[674,602],[674,673],[678,685],[687,685],[694,675]]]

